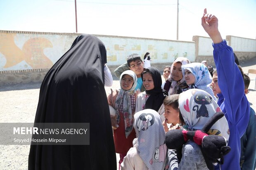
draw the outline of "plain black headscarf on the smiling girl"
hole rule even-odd
[[[157,70],[157,68],[149,67],[144,71],[149,72],[152,75],[154,82],[154,88],[152,90],[146,90],[146,93],[150,96],[146,101],[145,109],[154,109],[157,112],[168,93],[161,88],[162,78],[161,73],[159,70]],[[143,80],[143,74],[141,74],[141,78]]]

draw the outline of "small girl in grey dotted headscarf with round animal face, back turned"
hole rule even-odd
[[[164,170],[167,147],[159,114],[145,109],[134,115],[137,138],[121,164],[121,170]]]

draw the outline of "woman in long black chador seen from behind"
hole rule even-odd
[[[35,123],[90,123],[90,145],[31,145],[29,170],[116,170],[104,63],[104,44],[81,35],[47,72]]]

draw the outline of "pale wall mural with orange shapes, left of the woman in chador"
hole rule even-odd
[[[51,68],[69,49],[68,37],[0,33],[0,71]]]

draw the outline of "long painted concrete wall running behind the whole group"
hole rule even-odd
[[[77,33],[40,33],[0,30],[0,85],[40,82],[47,70],[71,47]],[[107,65],[113,72],[133,53],[150,53],[152,66],[163,70],[177,57],[214,65],[209,37],[193,36],[193,42],[137,37],[95,35],[107,49]],[[256,40],[227,36],[239,61],[256,57]]]

